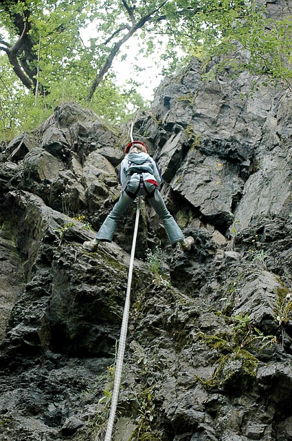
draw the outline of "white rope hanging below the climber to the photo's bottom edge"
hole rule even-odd
[[[124,304],[124,314],[122,320],[122,328],[120,333],[120,341],[119,347],[117,349],[117,361],[115,363],[115,381],[113,383],[113,396],[111,399],[111,410],[109,412],[109,420],[106,427],[106,434],[104,437],[104,441],[111,441],[111,434],[113,432],[113,423],[115,421],[115,413],[117,410],[117,398],[119,396],[120,391],[120,382],[122,377],[122,369],[123,369],[123,360],[124,360],[124,351],[126,347],[126,333],[128,329],[128,314],[130,310],[130,296],[131,296],[131,284],[132,284],[132,276],[133,276],[133,266],[134,266],[134,256],[135,256],[135,247],[137,240],[137,232],[139,225],[139,214],[140,214],[140,198],[137,201],[137,212],[135,219],[135,228],[133,235],[133,243],[131,249],[131,257],[130,257],[130,265],[128,269],[128,285],[126,289],[126,300]],[[98,438],[96,438],[98,441]]]

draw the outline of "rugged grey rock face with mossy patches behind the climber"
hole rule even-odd
[[[292,440],[292,95],[202,69],[135,119],[195,246],[142,202],[115,441]],[[1,153],[0,440],[103,439],[135,204],[113,243],[82,242],[119,196],[125,133],[67,103]]]

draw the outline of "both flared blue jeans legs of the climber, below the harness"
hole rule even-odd
[[[158,214],[159,218],[162,220],[170,243],[177,243],[179,242],[179,240],[182,240],[184,237],[183,232],[166,208],[166,204],[164,203],[164,200],[158,189],[155,190],[154,196],[152,198],[148,198],[148,201],[150,205],[152,205],[152,207],[155,209],[155,212]],[[122,214],[126,212],[126,209],[128,209],[128,207],[130,207],[133,202],[133,198],[128,196],[125,192],[122,192],[120,199],[117,201],[109,216],[107,216],[106,220],[104,220],[104,223],[100,227],[96,238],[101,240],[113,240],[113,234],[115,232],[117,220],[120,219]]]

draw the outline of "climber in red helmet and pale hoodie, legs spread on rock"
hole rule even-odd
[[[161,218],[170,243],[179,242],[184,252],[189,251],[194,238],[183,236],[179,225],[166,208],[159,192],[161,174],[154,159],[149,156],[146,145],[141,141],[132,141],[126,146],[125,155],[118,177],[122,194],[109,216],[104,220],[96,238],[83,243],[83,247],[94,252],[100,240],[110,242],[113,239],[117,220],[130,207],[136,196],[145,196]]]

